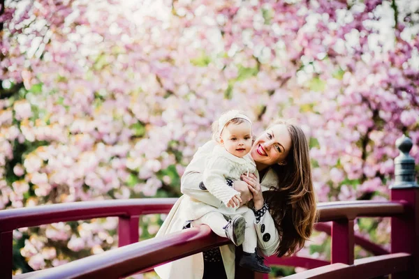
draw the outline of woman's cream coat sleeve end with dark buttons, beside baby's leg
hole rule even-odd
[[[259,223],[255,221],[255,228],[260,252],[267,257],[274,255],[279,246],[280,237],[269,211],[263,214]]]

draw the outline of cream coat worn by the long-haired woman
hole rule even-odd
[[[201,202],[219,207],[221,206],[221,201],[219,201],[219,199],[216,199],[207,190],[200,189],[200,183],[203,181],[205,158],[210,156],[215,145],[216,142],[210,141],[198,149],[182,176],[181,190],[182,193],[198,199]],[[275,174],[272,169],[269,169],[260,184],[262,185],[262,190],[277,187],[277,174]],[[185,206],[182,206],[182,199],[184,199],[184,197],[185,196],[180,197],[172,207],[156,237],[182,230],[187,221],[184,213]],[[279,246],[279,234],[275,228],[272,216],[267,212],[260,222],[257,224],[255,223],[254,225],[256,227],[256,233],[258,234],[258,251],[265,256],[273,255]],[[220,250],[227,278],[234,279],[235,247],[233,244],[229,244],[221,246]],[[203,253],[200,252],[168,264],[163,264],[162,266],[156,267],[155,271],[162,279],[202,279],[204,273]]]

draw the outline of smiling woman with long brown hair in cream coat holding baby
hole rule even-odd
[[[202,183],[205,158],[215,144],[207,142],[198,149],[182,176],[181,190],[190,197],[218,207],[221,202],[208,193]],[[304,246],[317,216],[307,139],[300,127],[282,120],[275,121],[256,138],[251,156],[256,162],[260,181],[256,176],[242,176],[242,181],[235,181],[234,187],[242,193],[243,201],[248,195],[247,189],[253,197],[258,251],[265,256],[291,255]],[[186,220],[182,218],[181,200],[182,197],[173,206],[157,236],[183,228]],[[234,248],[233,244],[222,246],[220,253],[218,250],[206,251],[205,259],[203,253],[198,253],[155,270],[164,279],[206,279],[219,278],[220,275],[233,279]]]

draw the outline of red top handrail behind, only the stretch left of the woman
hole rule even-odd
[[[0,232],[74,220],[168,213],[176,201],[177,198],[108,199],[6,209],[0,211]]]

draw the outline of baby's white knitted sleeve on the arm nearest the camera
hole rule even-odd
[[[228,160],[221,156],[214,156],[210,159],[204,171],[205,187],[226,206],[232,197],[240,196],[240,192],[226,183],[226,177],[230,170],[228,165]]]

